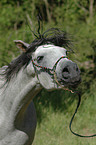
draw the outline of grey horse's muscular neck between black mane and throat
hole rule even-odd
[[[24,106],[27,108],[33,97],[41,90],[34,71],[31,71],[33,66],[29,65],[28,67],[22,68],[0,95],[0,106],[4,108],[6,114],[11,112],[13,118],[21,108]]]

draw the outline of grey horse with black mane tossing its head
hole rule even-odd
[[[31,44],[14,41],[22,53],[0,68],[0,145],[31,145],[37,117],[33,98],[44,88],[75,88],[81,80],[67,34],[51,28]]]

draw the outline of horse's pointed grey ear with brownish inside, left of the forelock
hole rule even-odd
[[[27,51],[28,46],[29,46],[28,43],[25,43],[25,42],[23,42],[21,40],[14,40],[14,42],[15,42],[16,46],[18,48],[20,48],[23,52],[26,52]]]

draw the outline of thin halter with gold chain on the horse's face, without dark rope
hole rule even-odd
[[[42,68],[42,70],[44,70],[45,72],[47,72],[49,75],[51,75],[51,76],[53,77],[53,80],[55,80],[56,84],[57,84],[58,86],[60,86],[63,90],[70,91],[71,93],[74,93],[72,90],[69,90],[68,88],[63,87],[63,86],[58,82],[58,80],[57,80],[56,66],[57,66],[58,62],[59,62],[61,59],[63,59],[63,58],[67,58],[67,57],[65,57],[65,56],[60,57],[60,58],[56,61],[55,65],[53,66],[52,69],[47,68],[47,67],[43,67],[43,66],[41,66],[41,65],[37,65],[37,64],[34,62],[34,60],[32,60],[32,64],[33,64],[33,67],[34,67],[34,69],[35,69],[35,73],[36,73],[36,75],[37,75],[37,78],[38,78],[38,70],[36,69],[36,67]],[[38,80],[39,80],[39,78],[38,78]]]

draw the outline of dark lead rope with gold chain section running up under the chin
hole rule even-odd
[[[78,136],[78,137],[83,137],[83,138],[89,138],[89,137],[96,137],[96,134],[93,134],[93,135],[81,135],[81,134],[78,134],[78,133],[75,133],[74,131],[72,131],[72,123],[73,123],[73,120],[74,120],[74,117],[75,117],[75,115],[76,115],[76,113],[77,113],[77,111],[78,111],[78,108],[79,108],[79,106],[80,106],[80,103],[81,103],[81,94],[79,93],[79,92],[77,92],[77,91],[72,91],[72,90],[69,90],[68,88],[64,88],[59,82],[58,82],[58,80],[57,80],[57,76],[56,76],[56,72],[54,71],[54,79],[55,79],[55,81],[56,81],[56,83],[63,89],[63,90],[67,90],[67,91],[70,91],[71,93],[76,93],[77,95],[78,95],[78,103],[77,103],[77,107],[76,107],[76,109],[75,109],[75,112],[74,112],[74,114],[73,114],[73,116],[72,116],[72,118],[71,118],[71,121],[70,121],[70,124],[69,124],[69,129],[70,129],[70,131],[71,131],[71,133],[73,133],[74,135],[76,135],[76,136]]]

